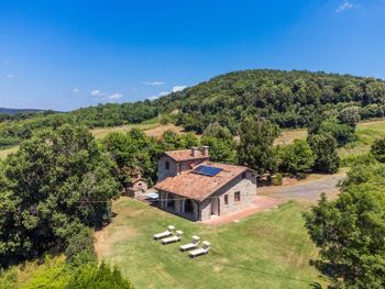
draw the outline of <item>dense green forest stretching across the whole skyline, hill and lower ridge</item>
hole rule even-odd
[[[0,148],[19,144],[32,132],[64,123],[88,127],[141,123],[161,115],[187,131],[202,133],[210,123],[239,134],[239,124],[252,116],[280,127],[308,127],[354,107],[360,118],[385,115],[385,81],[310,71],[243,70],[150,101],[108,103],[66,113],[0,114]]]

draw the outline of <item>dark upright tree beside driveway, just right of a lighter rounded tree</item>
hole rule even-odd
[[[340,159],[334,137],[327,134],[316,134],[309,135],[307,141],[316,156],[314,169],[320,173],[336,173],[340,166]]]

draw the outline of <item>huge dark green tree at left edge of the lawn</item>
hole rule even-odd
[[[0,264],[62,249],[79,224],[102,226],[120,194],[114,164],[86,126],[25,141],[1,170]]]

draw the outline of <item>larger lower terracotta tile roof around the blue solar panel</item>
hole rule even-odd
[[[222,168],[222,171],[213,177],[208,177],[188,170],[182,173],[179,176],[168,177],[156,184],[154,187],[157,190],[173,192],[182,197],[202,201],[230,180],[248,170],[246,167],[211,162],[205,162],[202,165]]]

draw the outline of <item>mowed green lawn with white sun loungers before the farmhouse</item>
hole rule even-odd
[[[215,227],[125,197],[113,209],[112,223],[96,233],[96,248],[99,257],[119,265],[135,288],[309,288],[321,282],[309,266],[317,249],[299,203]],[[164,246],[152,236],[169,224],[184,231],[184,237]],[[190,259],[178,246],[195,234],[212,245],[208,255]]]

